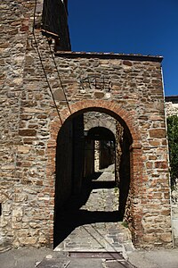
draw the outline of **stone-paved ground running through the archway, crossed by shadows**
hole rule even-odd
[[[123,254],[132,251],[134,247],[130,231],[122,222],[117,222],[117,209],[118,190],[115,187],[114,166],[111,165],[101,171],[97,180],[92,181],[92,190],[86,203],[77,214],[73,214],[73,220],[77,217],[76,228],[55,250]]]

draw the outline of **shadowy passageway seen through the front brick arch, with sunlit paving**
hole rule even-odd
[[[102,118],[101,125],[98,118]],[[93,121],[91,128],[88,121]],[[112,130],[103,127],[104,121],[112,123]],[[131,174],[128,133],[125,125],[102,110],[82,111],[62,125],[56,148],[54,247],[69,250],[72,243],[85,250],[120,247],[117,224],[126,216]],[[92,230],[102,235],[94,237]],[[114,240],[107,244],[113,232],[117,232],[113,238],[118,244]]]

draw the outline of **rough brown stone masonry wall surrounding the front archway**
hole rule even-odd
[[[33,35],[34,2],[0,4],[0,239],[53,247],[58,133],[92,111],[111,115],[130,139],[134,245],[172,247],[162,58],[57,51],[55,36],[50,45],[42,35],[42,7]]]

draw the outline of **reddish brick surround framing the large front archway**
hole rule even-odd
[[[51,138],[47,145],[47,166],[46,176],[51,186],[50,190],[50,207],[51,214],[50,223],[50,243],[53,244],[53,207],[54,207],[54,193],[55,193],[55,154],[56,154],[56,142],[59,130],[63,123],[69,118],[74,117],[78,113],[85,113],[89,111],[96,111],[102,113],[108,113],[116,120],[120,121],[125,127],[128,128],[133,139],[133,143],[130,147],[131,154],[131,204],[135,204],[134,200],[142,198],[145,193],[145,189],[142,187],[143,181],[143,157],[142,157],[142,137],[137,127],[136,115],[134,111],[128,112],[121,105],[104,101],[104,100],[83,100],[71,104],[69,108],[65,107],[61,110],[61,119],[56,117],[51,122]],[[131,205],[132,217],[134,219],[131,230],[133,231],[134,244],[141,243],[142,240],[142,208]],[[133,228],[134,227],[134,228]]]

